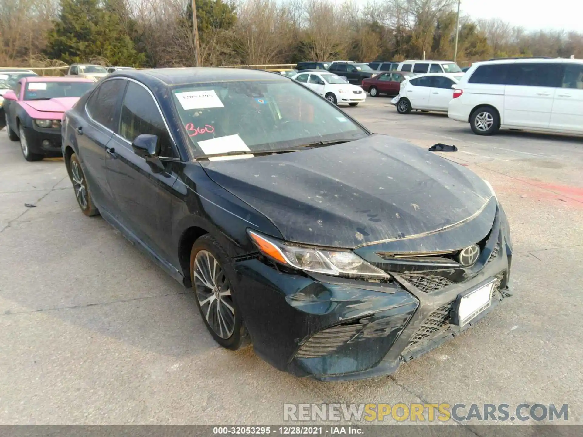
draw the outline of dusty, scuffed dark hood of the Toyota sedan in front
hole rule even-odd
[[[202,165],[287,241],[305,244],[354,248],[438,231],[472,217],[491,198],[465,167],[385,135]],[[484,236],[492,221],[484,221]]]

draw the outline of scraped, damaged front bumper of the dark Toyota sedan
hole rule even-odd
[[[503,211],[491,207],[496,220],[480,261],[463,272],[409,266],[382,283],[284,270],[257,257],[238,261],[237,305],[256,353],[296,376],[363,379],[394,373],[457,336],[510,295],[510,235]],[[489,307],[456,325],[459,297],[490,281]]]

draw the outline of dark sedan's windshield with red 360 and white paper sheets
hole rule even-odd
[[[195,158],[241,150],[278,151],[368,135],[324,98],[283,78],[200,83],[172,91]]]

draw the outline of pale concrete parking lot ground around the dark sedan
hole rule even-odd
[[[442,156],[503,202],[514,296],[497,311],[392,376],[294,378],[217,346],[192,295],[80,213],[62,160],[27,163],[2,131],[0,424],[280,424],[283,403],[428,402],[567,403],[583,424],[583,138],[480,137],[389,101],[345,109],[374,132],[456,145]]]

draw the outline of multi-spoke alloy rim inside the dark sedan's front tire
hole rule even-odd
[[[196,299],[208,325],[222,339],[233,335],[235,310],[231,286],[223,267],[209,251],[199,251],[194,259]]]

